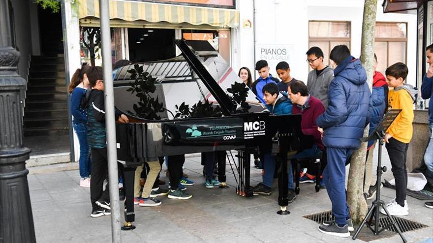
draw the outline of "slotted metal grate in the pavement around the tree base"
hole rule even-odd
[[[310,219],[310,220],[313,220],[319,224],[323,224],[323,222],[331,221],[333,219],[332,211],[324,211],[324,212],[320,212],[320,213],[305,215],[303,217]],[[401,217],[393,216],[393,218],[394,218],[394,221],[396,221],[397,225],[400,226],[400,229],[402,230],[402,232],[407,232],[407,231],[412,231],[412,230],[417,230],[417,229],[422,229],[422,228],[428,227],[428,225],[424,225],[422,223],[407,220],[407,219],[404,219]],[[396,227],[391,224],[391,220],[386,216],[382,216],[379,219],[380,228],[383,225],[389,225],[388,229],[397,233]]]

